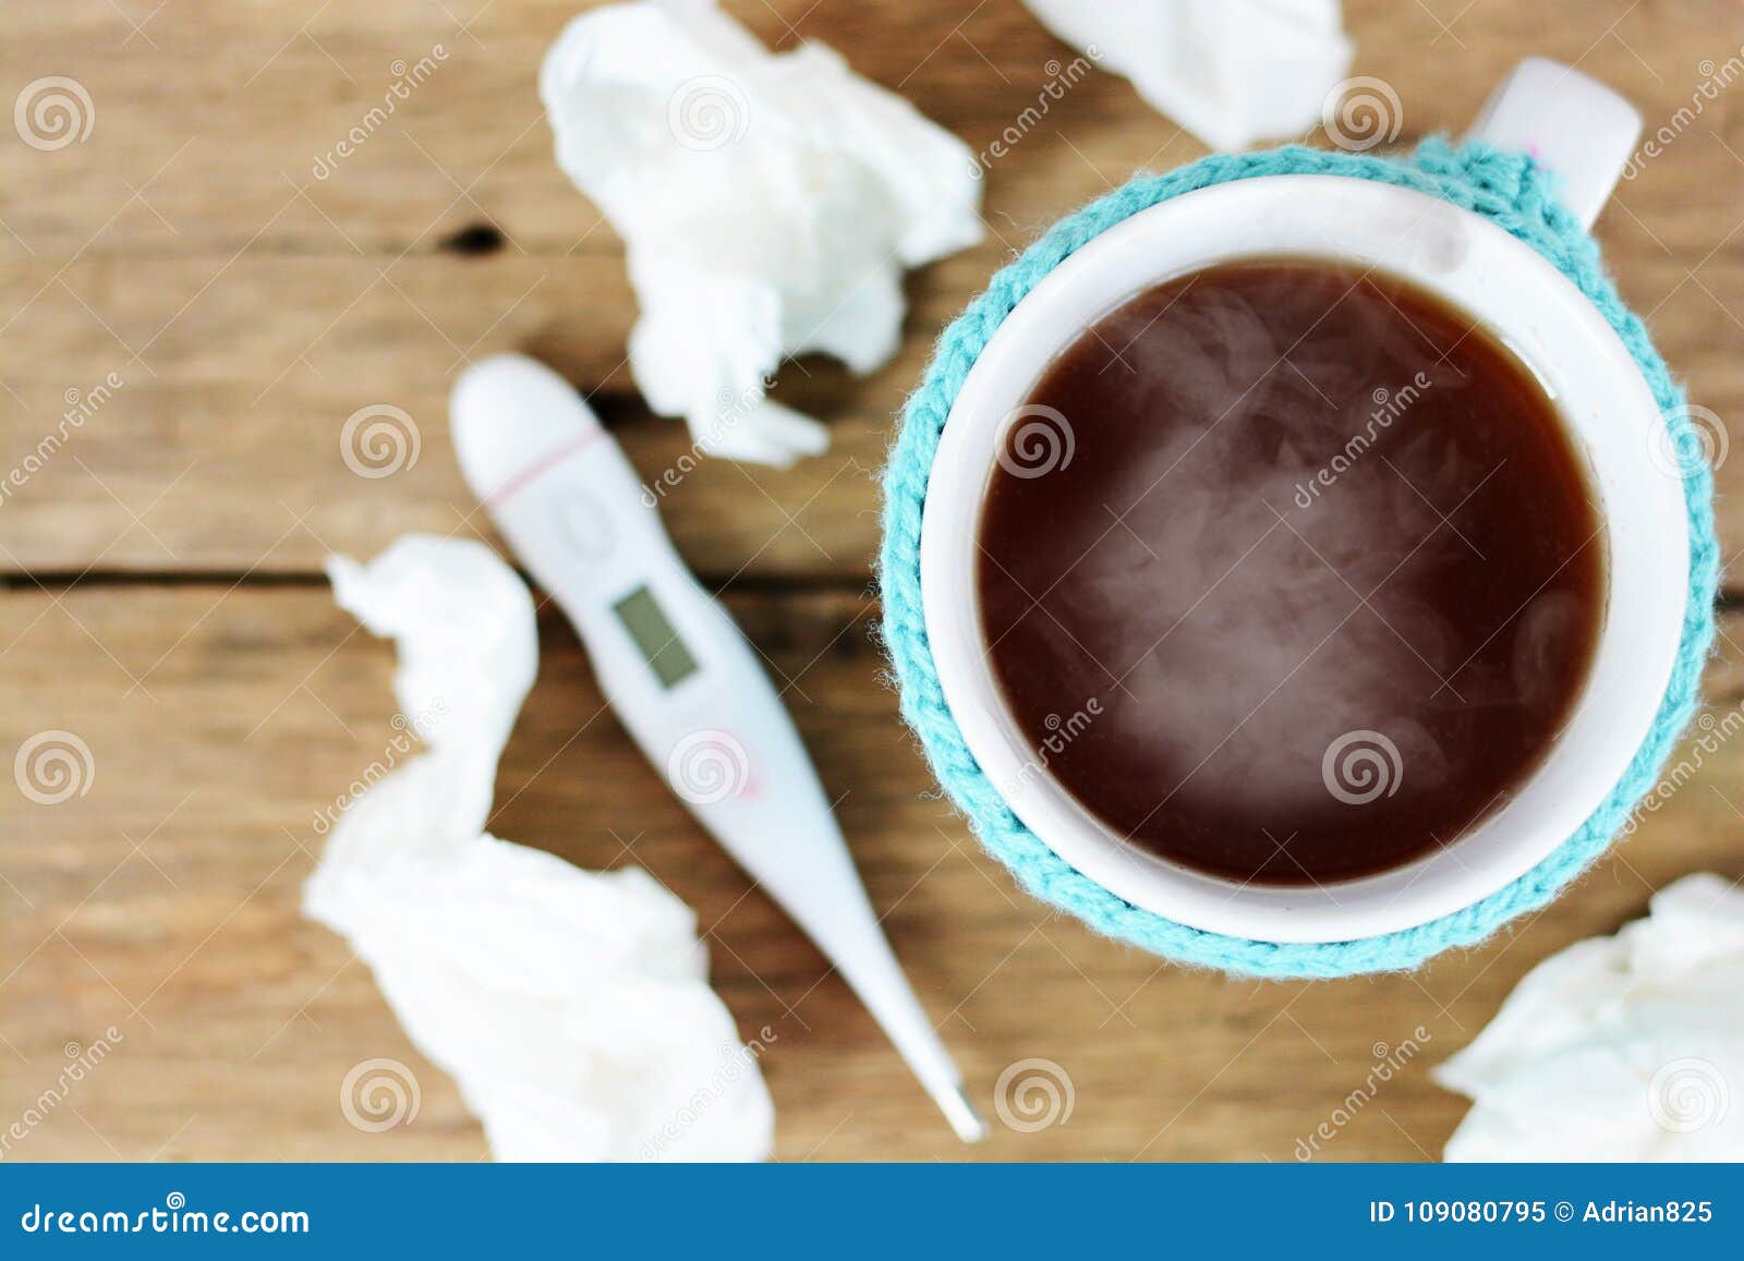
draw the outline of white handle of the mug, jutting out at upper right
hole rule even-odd
[[[1526,58],[1491,92],[1467,140],[1524,150],[1561,178],[1563,202],[1584,228],[1634,160],[1641,113],[1573,66]]]

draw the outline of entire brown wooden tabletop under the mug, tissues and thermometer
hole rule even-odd
[[[490,532],[455,471],[445,399],[467,361],[556,365],[647,474],[680,424],[651,417],[623,354],[621,248],[551,162],[534,78],[574,0],[370,5],[61,0],[0,14],[5,101],[44,75],[89,94],[91,131],[44,152],[0,140],[0,464],[63,412],[89,419],[0,502],[0,753],[42,731],[92,753],[87,792],[0,794],[0,1128],[68,1053],[108,1059],[9,1158],[476,1160],[453,1085],[406,1041],[368,970],[298,898],[316,811],[382,755],[392,652],[333,607],[321,560],[406,530]],[[971,147],[1069,59],[1017,0],[738,0],[764,40],[823,40]],[[1360,0],[1357,73],[1406,134],[1460,127],[1521,56],[1578,63],[1671,124],[1744,45],[1704,0]],[[420,58],[445,58],[326,178],[317,159]],[[1737,63],[1732,63],[1737,68]],[[1744,87],[1702,99],[1622,187],[1599,235],[1693,398],[1744,415]],[[989,239],[909,281],[902,352],[865,380],[807,358],[778,398],[834,446],[787,473],[713,462],[668,499],[680,549],[774,668],[872,900],[989,1106],[1045,1059],[1073,1111],[964,1149],[794,926],[710,844],[600,706],[569,628],[541,616],[541,678],[499,778],[494,830],[584,867],[642,863],[696,907],[715,984],[762,1064],[792,1160],[1434,1158],[1463,1102],[1427,1069],[1465,1045],[1545,954],[1639,916],[1699,869],[1744,874],[1744,741],[1693,778],[1549,912],[1414,975],[1250,984],[1160,964],[1015,890],[931,792],[874,638],[872,474],[942,323],[1062,211],[1139,166],[1200,153],[1127,82],[1090,75],[985,181]],[[501,232],[501,248],[490,249]],[[471,249],[469,249],[471,246]],[[485,246],[485,253],[478,253]],[[113,380],[120,382],[110,385]],[[403,408],[415,462],[359,478],[340,429]],[[1720,473],[1744,537],[1744,460]],[[1744,699],[1744,633],[1711,668]],[[1373,1101],[1376,1057],[1421,1050]],[[77,1045],[77,1046],[75,1046]],[[417,1120],[368,1134],[340,1081],[391,1057]]]

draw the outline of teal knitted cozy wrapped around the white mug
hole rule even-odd
[[[1666,417],[1678,464],[1686,469],[1690,586],[1683,635],[1653,727],[1622,781],[1573,835],[1503,890],[1416,928],[1348,942],[1261,942],[1203,931],[1135,907],[1073,869],[1024,827],[970,753],[945,705],[921,609],[921,513],[933,457],[957,391],[994,330],[1053,267],[1121,220],[1195,188],[1270,174],[1378,180],[1441,197],[1524,241],[1568,276],[1622,338]],[[940,785],[968,816],[980,842],[1034,896],[1099,933],[1184,964],[1270,978],[1414,968],[1446,949],[1474,945],[1516,916],[1549,903],[1604,853],[1641,797],[1653,788],[1700,703],[1702,663],[1714,635],[1720,546],[1714,539],[1713,494],[1702,436],[1688,415],[1681,387],[1653,349],[1639,316],[1617,295],[1598,242],[1557,201],[1550,173],[1533,159],[1482,143],[1453,147],[1439,138],[1397,159],[1296,145],[1261,153],[1212,155],[1167,174],[1135,176],[1055,223],[996,274],[938,338],[921,387],[903,408],[884,469],[884,541],[879,556],[882,633],[902,694],[902,715],[919,736]]]

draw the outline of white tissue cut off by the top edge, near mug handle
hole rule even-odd
[[[1210,148],[1301,136],[1350,72],[1338,0],[1024,0]]]

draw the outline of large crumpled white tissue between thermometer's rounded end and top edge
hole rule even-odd
[[[624,239],[630,368],[698,450],[828,445],[764,398],[783,358],[895,354],[902,272],[982,239],[968,147],[821,44],[771,54],[713,0],[576,17],[539,75],[556,160]]]

